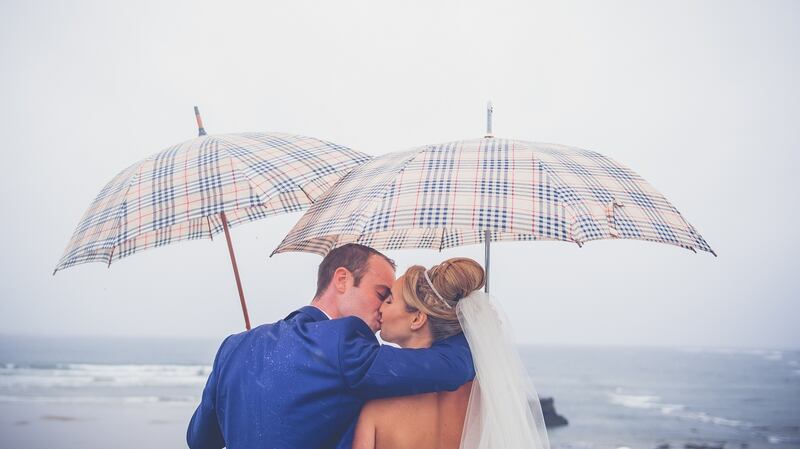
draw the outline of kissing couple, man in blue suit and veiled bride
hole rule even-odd
[[[223,341],[189,447],[549,449],[484,278],[453,258],[395,279],[372,248],[332,250],[311,305]]]

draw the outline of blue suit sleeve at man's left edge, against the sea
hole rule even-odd
[[[220,345],[217,356],[214,358],[214,365],[208,382],[203,389],[203,397],[200,405],[197,406],[192,420],[189,421],[189,428],[186,430],[186,443],[190,449],[221,449],[225,447],[225,439],[219,427],[217,419],[217,381],[220,365],[220,354],[225,347],[225,343],[230,337]]]

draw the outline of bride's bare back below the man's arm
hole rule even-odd
[[[472,382],[456,391],[370,401],[354,449],[458,449]]]

